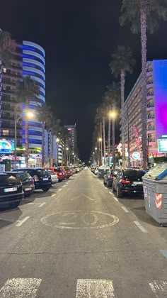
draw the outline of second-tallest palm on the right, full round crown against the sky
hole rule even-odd
[[[115,77],[120,75],[120,89],[121,89],[121,143],[122,143],[122,163],[125,167],[125,76],[127,73],[132,73],[135,60],[132,58],[132,51],[130,48],[118,45],[117,52],[111,55],[110,70]]]

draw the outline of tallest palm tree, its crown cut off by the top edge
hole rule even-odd
[[[143,168],[146,170],[147,148],[147,113],[146,113],[146,30],[154,33],[159,21],[167,19],[167,7],[163,0],[124,0],[121,8],[120,25],[131,23],[132,33],[141,34],[142,44],[142,152]]]

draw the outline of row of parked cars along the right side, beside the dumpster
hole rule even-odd
[[[92,171],[93,172],[93,171]],[[95,175],[96,172],[94,172]],[[110,169],[104,172],[103,183],[117,193],[118,198],[124,194],[139,194],[143,197],[142,177],[146,171],[142,169]]]

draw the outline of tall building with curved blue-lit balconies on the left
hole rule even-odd
[[[22,76],[30,76],[40,87],[38,103],[45,103],[45,51],[43,48],[30,41],[16,44],[11,65],[1,65],[0,72],[0,142],[6,139],[8,144],[14,140],[14,106],[16,105],[16,82]],[[30,110],[35,109],[37,102],[30,101]],[[21,106],[21,119],[17,123],[17,145],[25,145],[25,104]],[[28,121],[29,148],[39,150],[42,146],[42,126],[38,118]],[[9,146],[10,147],[10,146]],[[11,145],[12,148],[12,145]],[[1,148],[0,153],[10,153],[10,150]]]

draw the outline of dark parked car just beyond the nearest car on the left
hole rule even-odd
[[[18,180],[22,182],[23,185],[23,192],[25,196],[30,196],[30,194],[33,194],[35,190],[35,184],[33,177],[28,174],[28,172],[6,172],[9,175],[12,175],[16,177]]]

